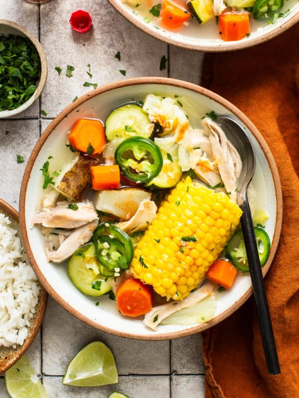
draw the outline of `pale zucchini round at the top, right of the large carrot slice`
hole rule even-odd
[[[108,141],[115,138],[140,136],[149,138],[153,123],[141,106],[128,104],[113,110],[106,120],[106,137]]]

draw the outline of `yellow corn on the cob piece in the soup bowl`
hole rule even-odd
[[[161,203],[134,253],[131,272],[167,299],[191,292],[236,229],[241,209],[190,177]]]

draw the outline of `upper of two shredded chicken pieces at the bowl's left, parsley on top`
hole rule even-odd
[[[30,227],[42,224],[51,228],[78,228],[93,220],[98,219],[98,214],[89,200],[76,203],[77,210],[70,208],[68,201],[58,202],[55,207],[34,214]],[[75,204],[75,203],[72,203]]]

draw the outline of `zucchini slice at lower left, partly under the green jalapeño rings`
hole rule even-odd
[[[96,249],[93,243],[79,247],[67,263],[67,272],[70,280],[76,288],[87,296],[100,297],[111,290],[108,282],[105,282],[105,276],[101,272],[110,271],[101,266],[96,259]]]

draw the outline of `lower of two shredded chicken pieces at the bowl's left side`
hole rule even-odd
[[[98,219],[95,219],[88,224],[73,230],[73,232],[62,242],[59,248],[52,250],[53,244],[51,242],[45,244],[45,252],[48,261],[54,263],[61,263],[70,257],[80,246],[87,243],[92,237],[93,231],[98,226]]]

